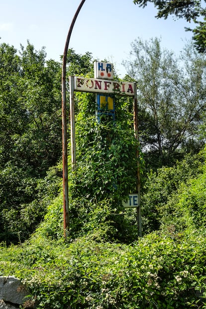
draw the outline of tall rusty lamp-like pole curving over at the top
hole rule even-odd
[[[62,63],[62,159],[63,159],[63,210],[64,210],[64,237],[67,240],[69,230],[69,188],[68,188],[68,157],[67,157],[67,113],[66,113],[66,63],[69,41],[77,16],[84,4],[82,0],[73,17],[67,35],[63,63]]]

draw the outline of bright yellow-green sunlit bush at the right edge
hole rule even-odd
[[[202,152],[205,157],[206,149]],[[172,198],[160,208],[162,226],[176,231],[201,228],[206,225],[206,162],[199,168],[198,177],[182,182]],[[169,214],[169,217],[168,217]]]

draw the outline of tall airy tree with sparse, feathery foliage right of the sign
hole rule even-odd
[[[206,97],[205,56],[188,45],[179,62],[172,52],[161,49],[157,38],[135,40],[131,56],[124,64],[137,81],[140,142],[145,152],[149,150],[153,158],[157,154],[155,160],[163,164],[172,162],[180,149],[188,152],[196,145],[198,152],[197,126],[203,122]]]

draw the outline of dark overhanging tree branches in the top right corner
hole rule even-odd
[[[199,52],[206,51],[206,8],[202,7],[206,1],[201,0],[133,0],[140,7],[145,7],[148,2],[154,3],[157,8],[157,18],[167,18],[170,14],[178,18],[193,20],[197,26],[194,29],[186,28],[194,33],[193,39]]]

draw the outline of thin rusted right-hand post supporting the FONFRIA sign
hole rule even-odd
[[[137,108],[137,89],[136,84],[134,86],[134,101],[133,101],[133,120],[134,120],[134,136],[138,142],[139,132],[138,132],[138,108]],[[137,181],[136,190],[138,193],[138,207],[137,207],[137,225],[138,225],[138,235],[142,237],[142,218],[141,218],[141,196],[140,196],[140,166],[139,166],[139,147],[137,145],[136,149],[137,156]]]

